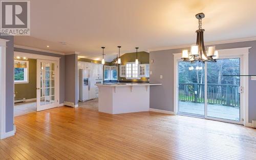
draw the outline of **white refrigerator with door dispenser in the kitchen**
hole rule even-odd
[[[95,76],[93,69],[80,69],[79,70],[79,101],[86,101],[95,98]]]

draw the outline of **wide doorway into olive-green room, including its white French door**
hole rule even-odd
[[[15,84],[14,115],[59,106],[59,58],[17,51],[14,57],[14,72],[17,73],[14,79],[19,83],[19,86]],[[20,93],[23,93],[22,98]]]

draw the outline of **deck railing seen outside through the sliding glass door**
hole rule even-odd
[[[179,83],[179,100],[204,103],[204,84]],[[240,107],[238,85],[207,84],[207,103]]]

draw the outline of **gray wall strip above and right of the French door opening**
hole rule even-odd
[[[23,49],[23,48],[14,48],[14,51],[26,52],[29,54],[36,54],[36,55],[60,57],[59,59],[59,103],[63,103],[65,101],[65,56],[51,54],[49,52]],[[12,61],[13,61],[13,57],[12,57]]]

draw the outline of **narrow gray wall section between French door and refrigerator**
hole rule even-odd
[[[74,104],[78,104],[77,99],[77,55],[67,55],[65,56],[66,61],[66,82],[65,82],[65,101],[73,102]]]

